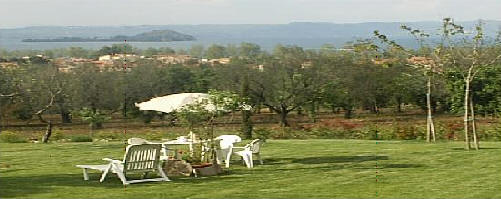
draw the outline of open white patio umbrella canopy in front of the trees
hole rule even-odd
[[[170,113],[180,110],[186,105],[202,103],[204,100],[209,100],[209,94],[179,93],[163,97],[155,97],[146,102],[135,103],[135,105],[142,111],[160,111]],[[210,102],[207,102],[204,106],[204,108],[208,111],[214,111],[216,109],[216,107]]]

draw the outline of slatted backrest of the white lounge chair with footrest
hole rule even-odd
[[[124,157],[124,173],[155,170],[160,163],[161,149],[161,144],[127,146]]]

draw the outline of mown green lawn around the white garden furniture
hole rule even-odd
[[[123,143],[0,143],[0,198],[501,198],[501,142],[269,140],[265,165],[132,184],[83,181],[75,164],[121,158]],[[257,163],[257,162],[256,162]]]

